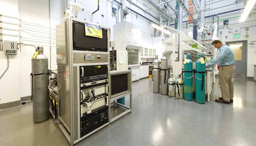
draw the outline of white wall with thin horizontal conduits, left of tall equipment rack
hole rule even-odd
[[[0,3],[1,3],[0,11],[2,11],[3,15],[19,17],[23,22],[30,22],[30,23],[40,24],[44,26],[49,26],[49,1],[48,0],[40,0],[40,1],[0,0]],[[52,27],[55,27],[56,24],[60,22],[61,17],[63,17],[63,12],[65,10],[65,3],[63,4],[62,3],[63,3],[62,0],[55,0],[51,2],[51,13],[52,13],[51,26]],[[11,22],[11,23],[19,23],[18,20],[7,18],[7,17],[3,17],[3,21]],[[39,28],[34,26],[32,27],[26,24],[21,24],[21,26],[34,28],[34,29]],[[3,28],[19,29],[18,26],[13,26],[5,23],[3,23]],[[29,28],[24,28],[24,29],[29,30]],[[49,29],[43,29],[43,30],[49,31]],[[52,31],[54,32],[54,30]],[[35,33],[35,34],[43,34],[43,33],[31,32],[31,31],[27,31],[27,32]],[[3,33],[19,35],[18,32],[10,31],[10,30],[3,30]],[[21,36],[27,37],[27,38],[40,39],[36,37],[31,37],[30,34],[24,33],[24,32],[21,32]],[[12,36],[3,36],[3,40],[11,40],[11,41],[19,42],[18,37],[12,37]],[[33,44],[48,45],[48,46],[44,46],[44,54],[46,54],[46,56],[50,58],[49,43],[37,43],[37,42],[24,41],[28,39],[21,39],[21,40],[22,40],[21,42],[29,43],[29,44],[33,43]],[[42,41],[42,42],[49,42],[49,41]],[[52,66],[52,69],[54,69],[54,64],[56,64],[56,59],[55,59],[56,47],[52,47],[51,50],[52,50],[51,54],[53,58],[51,66]],[[2,100],[0,100],[0,104],[11,102],[11,101],[18,101],[21,99],[21,97],[31,95],[31,91],[30,91],[31,90],[30,89],[31,58],[34,52],[35,52],[35,47],[21,45],[17,55],[9,55],[10,67],[8,71],[5,73],[5,75],[2,77],[2,79],[0,79],[1,91],[5,91],[5,92],[1,92],[0,96]],[[0,52],[0,64],[3,64],[0,67],[0,74],[3,73],[3,71],[7,66],[6,58],[7,57],[4,54],[4,52]],[[49,68],[50,68],[50,60],[49,60]]]

